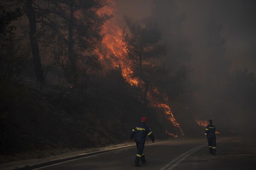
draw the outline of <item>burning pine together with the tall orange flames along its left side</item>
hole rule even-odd
[[[122,30],[114,15],[116,4],[112,0],[108,0],[108,3],[108,6],[100,10],[113,14],[113,18],[103,26],[106,36],[96,49],[101,62],[107,65],[108,69],[119,70],[129,85],[142,90],[144,95],[142,95],[143,100],[140,101],[157,109],[159,113],[164,113],[167,126],[171,122],[175,131],[183,136],[183,131],[167,104],[168,96],[164,89],[166,85],[163,84],[169,73],[157,59],[166,53],[165,45],[160,44],[161,31],[156,24],[143,24],[129,17],[124,17],[128,30]],[[178,136],[167,130],[166,133],[170,136]]]

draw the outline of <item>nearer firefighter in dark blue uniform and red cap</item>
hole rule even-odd
[[[134,137],[134,142],[136,142],[136,146],[137,146],[137,155],[136,155],[136,158],[135,158],[135,161],[134,161],[134,166],[135,167],[140,167],[140,164],[139,164],[140,159],[141,159],[142,164],[146,163],[145,155],[143,153],[146,136],[148,135],[150,137],[151,141],[154,143],[153,133],[148,128],[148,126],[145,124],[145,122],[146,122],[146,118],[142,117],[140,124],[135,126],[132,129],[132,132],[131,132],[131,135],[130,135],[131,142],[132,142],[132,139]]]

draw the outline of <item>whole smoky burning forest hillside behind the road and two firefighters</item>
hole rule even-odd
[[[1,161],[127,142],[142,116],[156,139],[200,136],[209,119],[217,133],[253,133],[255,8],[1,1]]]

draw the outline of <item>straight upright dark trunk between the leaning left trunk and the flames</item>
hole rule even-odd
[[[70,21],[69,21],[69,27],[68,27],[68,59],[70,62],[70,68],[72,70],[73,75],[76,74],[76,59],[74,56],[74,40],[73,40],[73,27],[74,27],[74,9],[73,9],[73,0],[70,1]]]

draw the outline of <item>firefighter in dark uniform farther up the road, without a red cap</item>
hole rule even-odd
[[[212,120],[209,120],[209,125],[207,127],[205,127],[205,136],[207,137],[207,141],[208,141],[208,147],[209,147],[209,151],[210,153],[212,153],[213,155],[216,154],[216,135],[215,135],[215,131],[216,131],[216,127],[214,125],[212,125]]]

